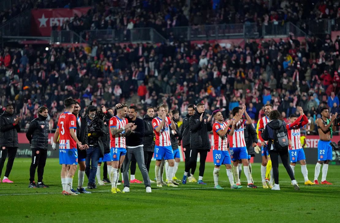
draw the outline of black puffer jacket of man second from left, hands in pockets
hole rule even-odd
[[[38,115],[33,119],[26,132],[26,138],[30,141],[31,149],[47,149],[48,147],[48,121],[47,117]]]

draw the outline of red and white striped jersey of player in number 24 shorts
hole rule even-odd
[[[303,121],[301,121],[303,120]],[[300,128],[308,123],[307,116],[304,114],[296,119],[295,122],[286,125],[288,130],[288,138],[292,141],[292,146],[289,148],[290,150],[294,149],[302,149],[301,145],[301,132]]]

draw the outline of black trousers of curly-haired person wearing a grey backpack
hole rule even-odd
[[[272,160],[272,168],[273,168],[273,175],[275,184],[278,183],[278,156],[280,156],[282,160],[283,166],[286,168],[286,171],[291,180],[295,180],[292,168],[289,165],[289,155],[288,150],[284,151],[276,151],[276,150],[269,150],[270,159]]]

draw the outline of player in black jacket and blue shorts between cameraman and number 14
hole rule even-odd
[[[113,117],[113,110],[111,108],[107,109],[105,106],[102,105],[102,111],[105,114],[104,116],[104,125],[109,132],[109,121],[110,118]],[[111,156],[110,156],[110,135],[106,134],[102,136],[102,142],[104,145],[104,157],[99,158],[98,166],[97,166],[97,181],[99,185],[105,185],[104,183],[111,183],[111,179],[107,178],[107,174],[109,175],[109,178],[111,178],[111,169],[112,169],[112,163],[111,163]],[[100,167],[102,162],[103,164],[103,180],[100,180]]]

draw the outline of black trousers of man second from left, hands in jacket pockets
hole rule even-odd
[[[47,149],[32,149],[32,162],[30,167],[30,182],[34,181],[35,169],[38,167],[38,181],[43,181],[44,168],[47,159]]]

